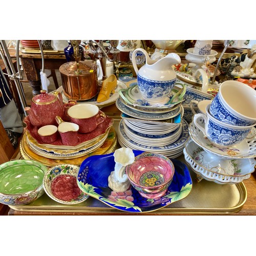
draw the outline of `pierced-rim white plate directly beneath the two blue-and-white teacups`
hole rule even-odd
[[[239,144],[227,148],[220,148],[213,145],[207,138],[204,138],[202,131],[193,122],[189,124],[189,134],[205,151],[219,157],[232,159],[256,157],[256,139],[252,139],[251,141],[244,139]]]

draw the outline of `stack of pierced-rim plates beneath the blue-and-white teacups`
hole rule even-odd
[[[189,140],[183,150],[185,160],[197,174],[218,184],[237,184],[249,179],[256,164],[256,129],[247,138],[229,148],[219,148],[204,138],[193,122],[189,124]]]

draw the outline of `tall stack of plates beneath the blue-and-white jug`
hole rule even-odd
[[[182,119],[181,102],[162,104],[145,101],[137,85],[122,90],[116,101],[122,112],[117,132],[119,144],[170,158],[182,155],[188,138],[188,124]]]

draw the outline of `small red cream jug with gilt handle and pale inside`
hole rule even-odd
[[[56,116],[58,132],[63,145],[75,146],[78,143],[79,125],[76,123],[65,122],[59,116]]]

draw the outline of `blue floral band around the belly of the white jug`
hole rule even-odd
[[[138,87],[140,92],[148,99],[164,98],[174,88],[176,78],[168,81],[156,81],[146,79],[138,74]]]

